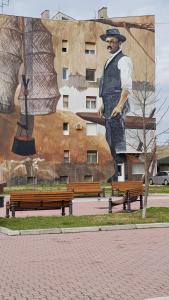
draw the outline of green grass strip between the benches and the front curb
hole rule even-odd
[[[0,227],[20,230],[163,222],[169,222],[169,208],[148,208],[146,219],[142,219],[141,211],[94,216],[0,218]]]

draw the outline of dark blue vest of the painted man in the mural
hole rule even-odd
[[[99,96],[103,97],[104,95],[112,95],[116,91],[121,91],[121,79],[120,79],[120,70],[117,65],[120,60],[125,56],[122,51],[119,52],[104,68],[103,76],[100,79],[99,86]]]

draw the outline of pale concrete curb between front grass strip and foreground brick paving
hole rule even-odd
[[[26,230],[11,230],[5,227],[0,227],[0,233],[9,236],[18,236],[18,235],[65,234],[65,233],[100,232],[100,231],[131,230],[131,229],[155,229],[155,228],[169,228],[169,223],[147,223],[147,224],[26,229]]]

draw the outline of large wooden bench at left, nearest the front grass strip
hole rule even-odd
[[[6,203],[6,217],[9,218],[9,211],[15,217],[15,211],[21,210],[49,210],[61,209],[62,216],[65,215],[65,207],[69,207],[69,214],[72,215],[73,192],[13,192],[10,201]]]

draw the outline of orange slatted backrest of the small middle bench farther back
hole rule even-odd
[[[78,190],[101,190],[100,182],[72,182],[67,184],[68,191],[78,191]]]

